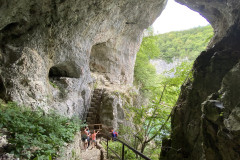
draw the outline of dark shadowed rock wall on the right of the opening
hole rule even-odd
[[[162,159],[240,159],[240,21],[236,0],[177,0],[209,20],[215,37],[172,111],[172,134]]]

